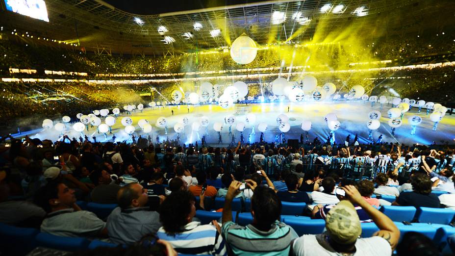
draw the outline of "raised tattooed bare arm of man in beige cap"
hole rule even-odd
[[[389,242],[392,251],[395,250],[398,240],[400,239],[400,230],[398,230],[393,221],[378,209],[368,204],[353,185],[347,185],[342,188],[346,191],[346,196],[349,200],[353,204],[362,207],[362,209],[375,222],[376,226],[378,226],[379,231],[374,233],[373,236],[380,236],[384,238],[387,242]]]

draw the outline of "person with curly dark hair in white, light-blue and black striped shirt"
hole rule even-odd
[[[213,225],[192,221],[196,216],[195,199],[189,191],[176,191],[161,204],[159,239],[168,241],[180,254],[226,255],[224,239]]]

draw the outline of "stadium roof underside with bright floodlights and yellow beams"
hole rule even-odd
[[[109,2],[115,5],[118,1]],[[176,4],[175,0],[163,2],[161,5],[167,5],[164,10]],[[439,23],[444,17],[441,11],[454,10],[451,0],[274,0],[193,10],[184,5],[175,8],[180,11],[151,15],[126,12],[119,9],[124,7],[102,0],[46,0],[46,5],[49,23],[11,12],[0,15],[0,22],[11,29],[29,29],[42,37],[80,43],[89,51],[166,54],[228,47],[244,32],[260,45],[284,42],[291,35],[294,42],[310,40],[322,22],[325,33],[352,23],[371,33],[379,22],[384,22],[381,26],[388,33],[420,31],[423,25]],[[144,5],[147,8],[150,4]],[[214,36],[216,31],[211,31],[216,29],[220,31]]]

